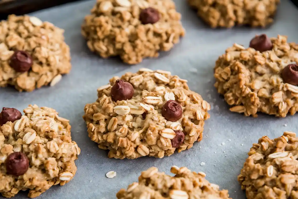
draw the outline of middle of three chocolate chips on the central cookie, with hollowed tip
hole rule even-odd
[[[181,105],[175,100],[168,100],[162,107],[162,116],[171,122],[180,120],[182,117]]]

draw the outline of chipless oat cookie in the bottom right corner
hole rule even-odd
[[[297,198],[297,146],[296,134],[288,131],[253,144],[238,176],[248,199]]]

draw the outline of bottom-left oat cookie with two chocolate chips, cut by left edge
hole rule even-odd
[[[53,185],[72,180],[80,148],[70,136],[69,120],[51,108],[29,105],[0,113],[0,193],[11,198],[29,190],[35,198]]]

